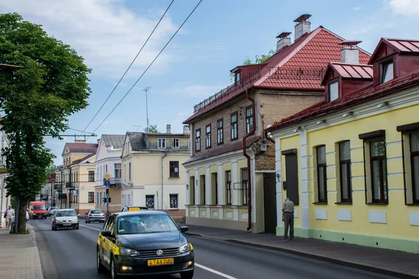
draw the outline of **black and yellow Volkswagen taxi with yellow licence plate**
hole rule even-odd
[[[163,211],[125,211],[108,217],[96,248],[98,272],[119,276],[180,273],[193,278],[193,246]]]

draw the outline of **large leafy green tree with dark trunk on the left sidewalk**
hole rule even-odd
[[[54,155],[44,135],[59,137],[68,116],[87,107],[91,72],[69,45],[17,13],[0,15],[0,120],[10,139],[5,149],[6,189],[20,201],[17,234],[26,229],[26,206],[45,183]],[[60,138],[61,139],[61,138]]]

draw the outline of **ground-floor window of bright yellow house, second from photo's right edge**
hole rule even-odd
[[[372,202],[387,202],[387,163],[385,162],[385,140],[369,142],[371,165]]]

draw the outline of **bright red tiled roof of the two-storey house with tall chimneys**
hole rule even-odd
[[[260,65],[260,68],[249,77],[252,80],[244,79],[244,84],[240,84],[240,90],[220,96],[220,98],[190,116],[184,123],[190,123],[198,116],[227,103],[252,86],[323,91],[324,87],[321,86],[321,79],[325,67],[330,61],[340,61],[341,50],[337,44],[343,40],[343,38],[323,27],[305,33],[293,45],[284,47]],[[367,63],[368,59],[369,54],[360,50],[360,63]]]

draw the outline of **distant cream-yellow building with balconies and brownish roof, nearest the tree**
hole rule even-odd
[[[73,208],[84,214],[95,208],[95,159],[98,144],[67,142],[62,153],[63,165],[57,167],[56,206]]]

